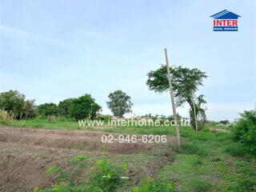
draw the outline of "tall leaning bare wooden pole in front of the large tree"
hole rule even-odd
[[[169,88],[170,88],[170,100],[171,100],[171,105],[172,105],[172,107],[173,107],[175,128],[176,128],[176,134],[177,134],[177,142],[178,142],[178,146],[180,146],[180,145],[181,145],[181,137],[180,137],[180,135],[179,135],[177,114],[176,114],[176,108],[175,108],[175,103],[174,103],[174,91],[173,91],[173,86],[172,86],[172,84],[171,84],[170,66],[169,66],[169,61],[168,61],[168,56],[167,56],[167,50],[166,50],[166,48],[165,48],[165,54],[166,54],[167,78],[168,78],[168,81],[169,81]]]

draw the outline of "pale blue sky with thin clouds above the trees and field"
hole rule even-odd
[[[256,99],[256,2],[247,1],[0,1],[0,91],[19,90],[36,104],[91,94],[106,107],[124,90],[134,114],[171,114],[170,96],[146,86],[165,63],[197,67],[209,78],[209,119],[238,117]],[[238,32],[212,31],[210,15],[230,10]],[[198,93],[198,94],[199,94]],[[178,108],[187,116],[187,106]]]

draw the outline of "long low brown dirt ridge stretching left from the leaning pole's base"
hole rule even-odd
[[[39,130],[28,128],[0,128],[0,142],[17,142],[33,146],[51,148],[78,149],[86,151],[107,151],[116,154],[131,154],[152,150],[155,146],[166,144],[143,143],[143,142],[113,142],[102,143],[103,132],[72,131],[72,130]],[[113,134],[118,138],[118,134]],[[139,136],[138,136],[139,137]],[[168,138],[174,141],[174,138]]]

